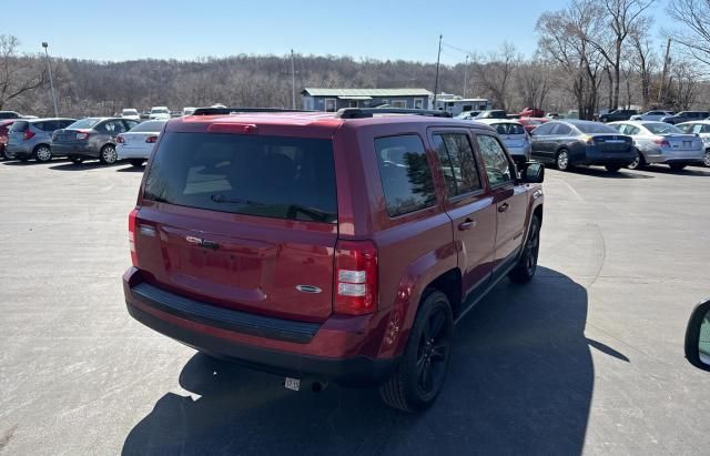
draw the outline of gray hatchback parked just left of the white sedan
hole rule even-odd
[[[54,132],[52,153],[77,164],[91,159],[112,164],[118,160],[115,138],[135,125],[136,121],[121,118],[82,119]]]

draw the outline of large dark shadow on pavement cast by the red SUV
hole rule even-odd
[[[587,307],[586,288],[551,270],[504,281],[456,327],[444,391],[419,415],[385,407],[375,389],[294,393],[196,354],[180,375],[193,395],[163,395],[122,453],[578,455],[594,387]]]

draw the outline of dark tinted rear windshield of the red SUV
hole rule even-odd
[[[329,140],[168,133],[143,197],[210,211],[335,223]]]

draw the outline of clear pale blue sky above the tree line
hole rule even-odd
[[[49,41],[52,55],[97,60],[282,55],[293,48],[304,54],[432,62],[439,33],[468,51],[486,53],[509,41],[531,54],[537,18],[567,2],[34,0],[31,20],[3,18],[0,33],[18,37],[24,52],[41,51],[40,43]],[[655,8],[656,29],[667,21],[665,3]],[[11,9],[11,16],[22,9]],[[465,53],[444,48],[444,63],[464,59]]]

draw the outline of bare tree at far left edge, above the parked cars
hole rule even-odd
[[[0,109],[44,84],[44,70],[37,68],[34,59],[18,55],[19,44],[16,37],[0,34]]]

